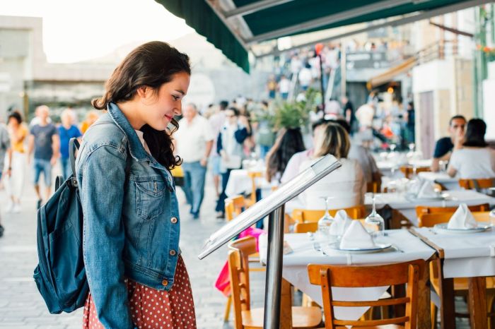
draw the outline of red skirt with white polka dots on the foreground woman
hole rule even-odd
[[[196,328],[191,284],[182,257],[177,260],[170,291],[157,290],[125,279],[132,322],[137,328]],[[83,312],[83,329],[105,329],[98,321],[95,304],[88,294]]]

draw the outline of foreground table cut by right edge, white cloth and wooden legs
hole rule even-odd
[[[468,234],[445,234],[427,227],[412,228],[425,243],[436,249],[441,287],[442,328],[455,328],[453,278],[469,278],[468,304],[471,328],[487,328],[486,277],[495,275],[495,230]]]

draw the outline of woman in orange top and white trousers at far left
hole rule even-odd
[[[8,133],[11,138],[11,148],[5,157],[5,188],[11,200],[6,211],[20,213],[26,164],[24,144],[29,131],[23,124],[23,117],[19,112],[8,115]]]

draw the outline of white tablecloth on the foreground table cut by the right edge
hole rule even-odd
[[[416,229],[445,253],[445,277],[485,277],[495,275],[495,230],[472,234],[434,233],[427,227]]]

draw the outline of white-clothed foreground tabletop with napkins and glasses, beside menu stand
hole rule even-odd
[[[351,220],[344,210],[335,217],[326,213],[318,222],[317,232],[284,234],[282,276],[294,287],[322,305],[321,289],[311,285],[307,265],[319,264],[385,264],[429,259],[435,251],[413,234],[403,229],[383,230],[383,219],[370,214],[368,221]],[[330,225],[328,222],[330,221]],[[260,260],[267,259],[267,237],[260,237]],[[388,287],[332,288],[339,300],[378,300]],[[337,318],[357,320],[367,307],[335,308]]]

